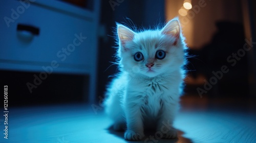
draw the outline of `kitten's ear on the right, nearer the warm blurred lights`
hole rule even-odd
[[[161,30],[162,34],[175,37],[174,45],[177,44],[178,39],[180,38],[180,22],[178,18],[170,20],[164,28]]]

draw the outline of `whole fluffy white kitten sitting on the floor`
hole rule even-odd
[[[184,78],[187,49],[178,18],[161,30],[134,32],[118,24],[120,74],[107,88],[105,111],[124,138],[140,140],[155,128],[163,138],[177,137],[172,127]],[[160,134],[160,135],[161,135]]]

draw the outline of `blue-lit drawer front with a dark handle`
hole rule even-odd
[[[49,64],[56,60],[62,67],[81,67],[89,64],[95,54],[90,44],[93,40],[90,18],[39,4],[25,8],[14,0],[1,1],[0,17],[5,17],[0,21],[2,61]],[[12,20],[8,23],[9,18]],[[39,34],[30,36],[29,32],[17,31],[20,24],[38,28]]]

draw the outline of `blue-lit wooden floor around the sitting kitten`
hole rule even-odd
[[[65,104],[9,107],[8,139],[3,115],[0,142],[256,142],[255,100],[183,97],[175,127],[177,139],[157,139],[155,133],[141,141],[126,141],[114,132],[100,105]],[[3,113],[3,111],[1,111]]]

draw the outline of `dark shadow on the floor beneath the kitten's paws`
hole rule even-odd
[[[124,132],[123,131],[114,131],[113,126],[110,126],[108,129],[106,129],[109,131],[110,134],[116,135],[120,138],[122,138],[124,140]],[[174,138],[174,139],[159,139],[157,137],[157,135],[155,134],[154,131],[146,131],[145,132],[145,137],[140,140],[140,141],[129,141],[129,140],[124,140],[126,142],[148,142],[148,143],[156,143],[156,142],[163,142],[163,143],[192,143],[191,139],[186,138],[184,136],[182,136],[184,134],[183,131],[178,130],[178,138]]]

